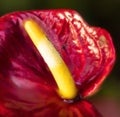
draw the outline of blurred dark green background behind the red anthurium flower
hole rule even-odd
[[[100,91],[88,98],[104,117],[120,117],[120,0],[0,0],[0,16],[21,10],[67,8],[90,24],[106,28],[116,48],[116,64]]]

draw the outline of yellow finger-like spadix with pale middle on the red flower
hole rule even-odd
[[[24,28],[48,65],[58,86],[60,96],[65,99],[75,98],[77,88],[72,75],[41,27],[35,21],[29,19],[24,22]]]

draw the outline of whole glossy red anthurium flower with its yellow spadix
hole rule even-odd
[[[0,18],[1,117],[101,117],[83,98],[115,61],[110,34],[73,10]]]

